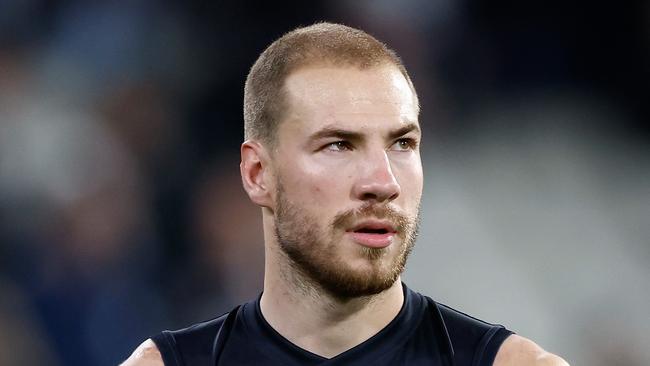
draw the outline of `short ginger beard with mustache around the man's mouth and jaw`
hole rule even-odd
[[[415,245],[419,207],[409,217],[385,204],[366,204],[357,210],[339,213],[325,229],[318,218],[292,204],[278,182],[275,236],[291,269],[309,284],[316,285],[338,299],[375,295],[390,288],[404,271],[406,260]],[[341,257],[340,241],[347,228],[364,218],[387,219],[397,229],[394,243],[385,248],[359,245],[358,255],[370,269],[354,268]],[[398,245],[396,252],[391,247]],[[391,257],[392,256],[392,257]]]

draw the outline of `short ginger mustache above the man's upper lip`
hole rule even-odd
[[[337,214],[332,220],[331,226],[334,229],[345,229],[354,225],[357,221],[367,218],[387,219],[398,233],[403,233],[413,221],[408,215],[390,206],[367,203],[359,208]]]

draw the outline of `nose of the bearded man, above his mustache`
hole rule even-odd
[[[393,173],[386,151],[367,157],[360,163],[352,194],[358,200],[390,202],[400,194],[400,185]]]

